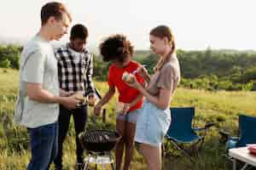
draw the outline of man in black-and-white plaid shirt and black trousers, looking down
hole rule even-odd
[[[87,28],[83,25],[75,25],[71,30],[70,42],[55,50],[55,58],[58,61],[58,75],[60,88],[73,94],[83,91],[89,98],[95,98],[95,88],[92,82],[93,59],[85,47],[88,37]],[[59,115],[59,152],[55,159],[55,169],[62,169],[62,144],[67,136],[70,117],[76,132],[77,165],[82,169],[84,161],[83,148],[79,143],[78,135],[84,131],[87,120],[87,105],[80,105],[76,109],[68,110],[60,105]]]

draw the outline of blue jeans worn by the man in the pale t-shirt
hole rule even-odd
[[[32,151],[27,170],[49,169],[58,151],[58,122],[27,130]]]

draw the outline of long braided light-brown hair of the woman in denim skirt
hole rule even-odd
[[[154,37],[160,37],[161,39],[167,37],[169,43],[172,45],[171,53],[166,56],[162,56],[158,60],[157,64],[154,66],[154,71],[160,71],[160,69],[166,64],[166,62],[171,59],[172,54],[175,53],[176,43],[174,41],[174,36],[168,26],[156,26],[150,31],[149,34]]]

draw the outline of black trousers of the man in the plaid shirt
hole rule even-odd
[[[62,145],[64,139],[67,136],[67,130],[69,127],[70,118],[73,116],[73,122],[76,132],[76,154],[77,162],[82,163],[84,161],[83,147],[79,142],[79,133],[84,131],[85,123],[87,121],[87,106],[83,105],[79,108],[68,110],[60,105],[59,115],[59,150],[57,157],[55,158],[55,169],[62,169]]]

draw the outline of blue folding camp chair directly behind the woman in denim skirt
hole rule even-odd
[[[192,157],[188,151],[181,147],[181,144],[192,144],[191,147],[199,144],[197,149],[201,148],[204,142],[207,130],[214,123],[207,123],[204,127],[192,127],[193,117],[195,116],[194,107],[171,108],[172,122],[166,133],[167,144],[172,143],[177,150],[180,150],[191,161]],[[200,136],[197,132],[203,131]]]

